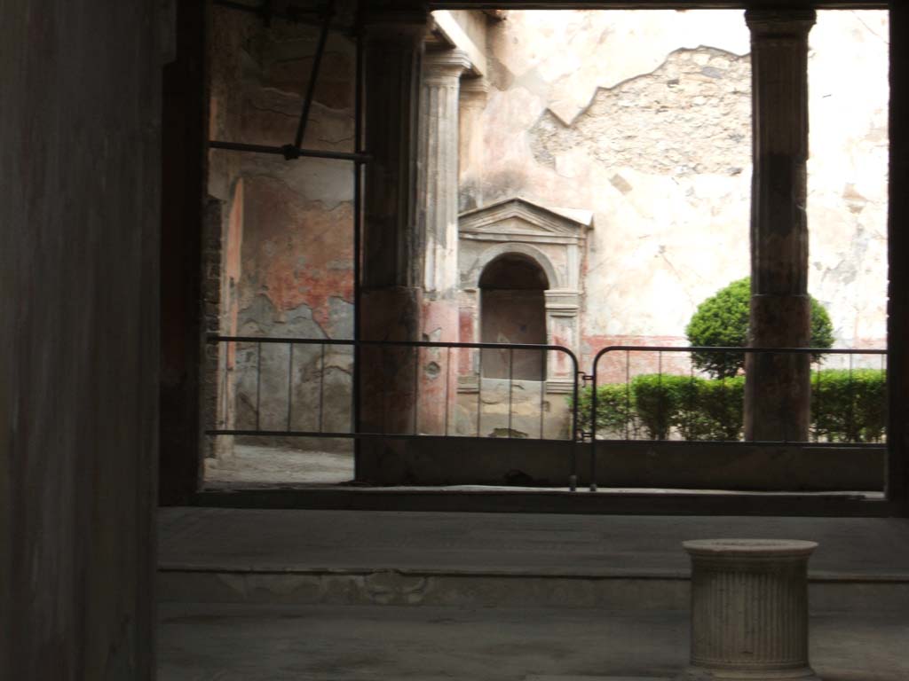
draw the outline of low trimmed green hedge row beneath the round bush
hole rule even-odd
[[[643,374],[596,390],[598,434],[628,439],[742,438],[744,376],[728,379]],[[812,378],[812,435],[829,442],[884,439],[882,370],[827,369]],[[578,419],[591,429],[593,390],[581,390]]]

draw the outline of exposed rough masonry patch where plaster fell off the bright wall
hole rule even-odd
[[[545,111],[530,130],[534,159],[571,173],[566,155],[583,148],[616,173],[741,174],[751,150],[750,77],[747,55],[676,50],[652,74],[599,88],[569,124]],[[619,175],[612,183],[633,189]]]

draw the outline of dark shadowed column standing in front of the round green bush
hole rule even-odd
[[[749,10],[754,177],[751,347],[807,347],[808,32],[814,10]],[[810,358],[748,354],[745,439],[806,440]]]

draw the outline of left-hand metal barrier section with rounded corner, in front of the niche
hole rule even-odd
[[[217,335],[208,342],[224,346],[220,422],[208,435],[578,439],[578,361],[562,346]],[[487,353],[497,355],[493,376],[484,372]],[[527,364],[561,364],[562,380],[527,378]],[[551,411],[556,383],[571,396],[562,416]]]

